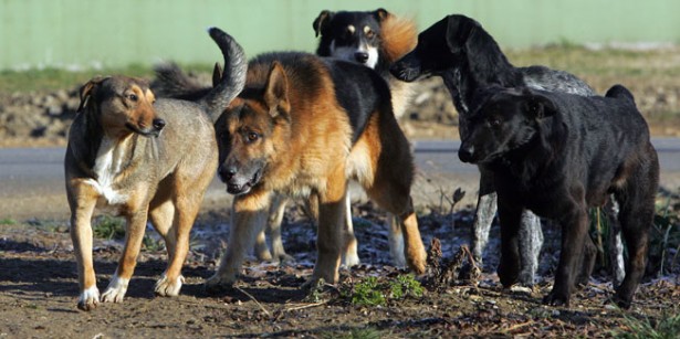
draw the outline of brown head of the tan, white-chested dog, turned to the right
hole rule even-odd
[[[122,138],[132,133],[157,137],[166,123],[156,115],[154,93],[144,80],[95,77],[81,87],[79,112],[93,114],[104,133]]]

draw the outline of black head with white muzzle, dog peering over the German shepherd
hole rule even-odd
[[[367,12],[322,11],[314,20],[316,53],[375,68],[379,59],[380,24],[390,14],[384,9]]]

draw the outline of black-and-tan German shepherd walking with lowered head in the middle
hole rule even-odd
[[[218,174],[234,194],[227,252],[207,289],[231,285],[264,227],[275,194],[316,200],[317,261],[307,283],[338,279],[348,180],[397,216],[411,269],[426,253],[412,209],[414,163],[373,70],[307,53],[270,53],[248,65],[245,88],[216,123]]]

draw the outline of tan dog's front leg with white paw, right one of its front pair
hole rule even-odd
[[[105,303],[123,303],[125,294],[127,293],[127,285],[137,265],[137,256],[142,248],[142,241],[144,240],[144,232],[146,229],[148,205],[133,210],[134,212],[126,215],[127,230],[123,256],[121,261],[118,261],[118,267],[111,278],[108,287],[106,287],[106,290],[102,294],[102,301]]]

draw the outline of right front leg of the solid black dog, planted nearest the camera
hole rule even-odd
[[[561,220],[562,247],[559,264],[555,272],[553,289],[543,298],[543,304],[569,306],[569,296],[575,286],[578,267],[583,263],[584,239],[588,231],[588,216],[585,206],[575,205]]]

